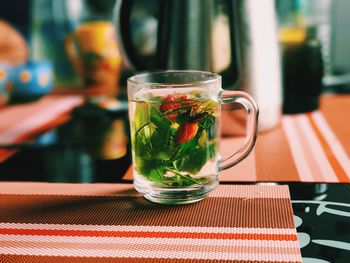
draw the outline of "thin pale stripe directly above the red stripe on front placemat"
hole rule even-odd
[[[68,224],[27,224],[0,223],[7,229],[45,229],[45,230],[90,230],[90,231],[137,231],[169,233],[227,233],[227,234],[281,234],[295,235],[295,229],[287,228],[235,228],[235,227],[186,227],[186,226],[112,226],[112,225],[68,225]]]

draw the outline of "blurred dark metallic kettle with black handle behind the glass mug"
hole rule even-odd
[[[135,71],[212,71],[223,77],[224,87],[235,85],[240,76],[235,4],[232,0],[118,0],[116,25],[124,60]],[[142,34],[137,20],[145,18],[141,21],[145,25],[147,16],[156,25],[145,38],[153,37],[150,41],[155,44],[151,52],[142,54],[142,46],[134,40]]]

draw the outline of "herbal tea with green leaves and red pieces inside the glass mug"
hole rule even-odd
[[[158,187],[216,182],[217,98],[200,91],[142,96],[129,105],[135,180]]]

